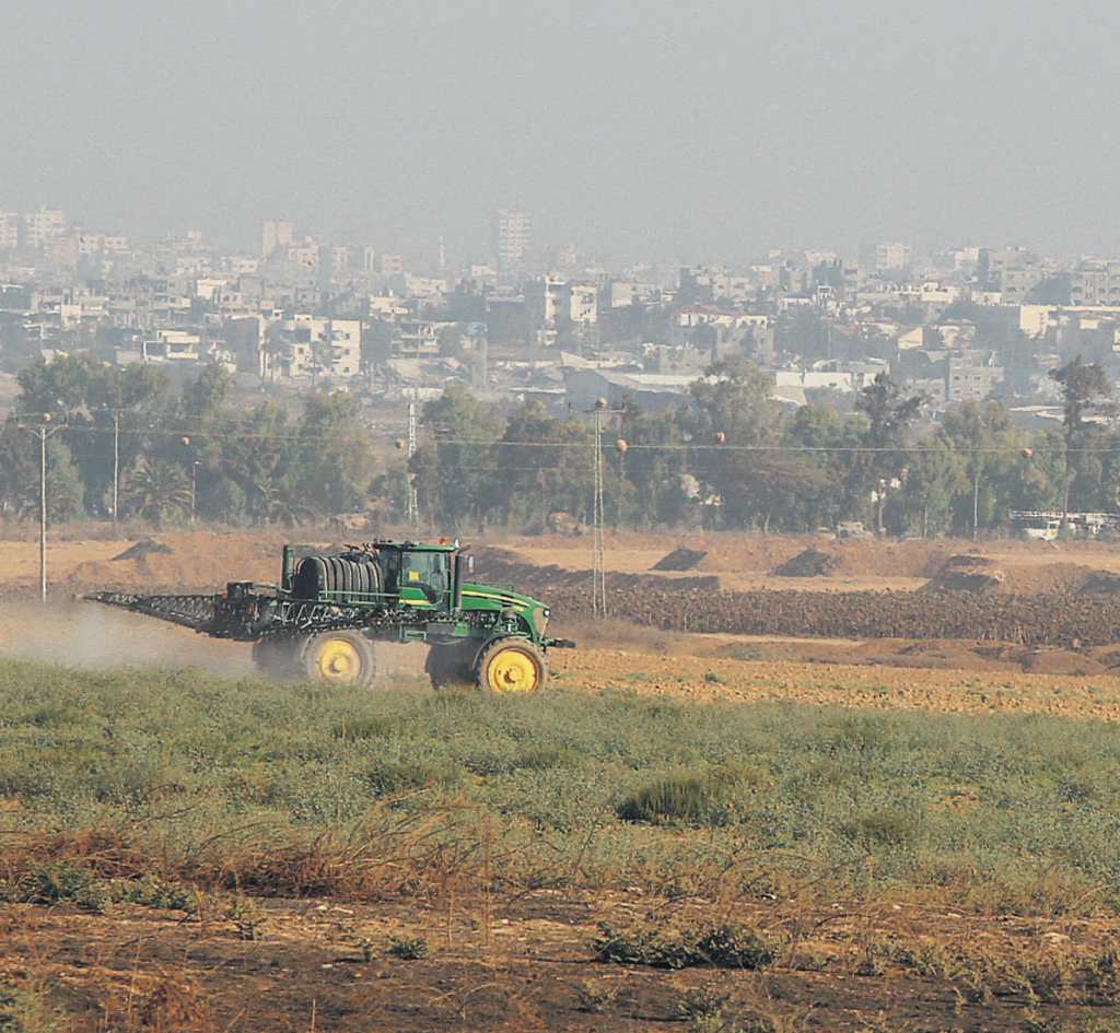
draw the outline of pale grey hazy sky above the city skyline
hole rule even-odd
[[[3,0],[0,209],[255,250],[1120,254],[1114,0]]]

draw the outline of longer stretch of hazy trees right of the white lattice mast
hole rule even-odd
[[[625,442],[605,470],[606,516],[652,525],[804,532],[864,520],[894,534],[968,534],[1005,526],[1008,509],[1114,510],[1120,433],[1090,422],[1109,393],[1080,359],[1054,373],[1062,431],[1030,434],[1000,403],[969,402],[921,440],[926,400],[880,374],[838,414],[771,398],[772,379],[747,359],[709,367],[691,404],[612,416]],[[495,520],[540,526],[590,513],[594,430],[539,403],[512,414],[451,387],[424,408],[428,438],[413,459],[421,508],[440,526]]]

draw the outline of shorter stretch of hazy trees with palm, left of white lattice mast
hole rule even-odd
[[[265,401],[227,405],[233,377],[200,370],[175,396],[151,366],[125,368],[90,354],[36,360],[19,375],[17,413],[0,429],[0,508],[38,515],[39,441],[45,419],[60,425],[47,441],[53,522],[120,515],[295,525],[362,509],[380,495],[407,498],[379,471],[373,444],[348,394],[317,392],[295,420]]]

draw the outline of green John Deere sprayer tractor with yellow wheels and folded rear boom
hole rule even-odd
[[[91,602],[144,613],[212,638],[253,644],[267,675],[368,685],[375,642],[426,642],[435,688],[488,693],[544,688],[549,608],[507,588],[467,581],[456,545],[371,542],[320,553],[286,545],[278,585],[231,581],[215,595],[94,592]]]

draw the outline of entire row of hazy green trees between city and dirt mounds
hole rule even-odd
[[[1113,510],[1120,432],[1086,419],[1108,393],[1100,367],[1054,372],[1065,397],[1061,431],[1034,434],[999,403],[968,403],[914,440],[924,402],[880,375],[856,412],[806,405],[790,413],[750,361],[715,364],[691,404],[601,415],[605,511],[619,526],[708,526],[802,532],[861,519],[900,534],[962,534],[1006,523],[1008,508]],[[314,522],[355,510],[419,515],[449,533],[488,523],[543,527],[591,513],[595,431],[538,402],[512,410],[448,387],[424,406],[409,460],[375,458],[358,405],[318,392],[293,419],[278,402],[234,410],[220,366],[172,395],[151,366],[110,366],[87,354],[19,375],[18,413],[0,428],[0,508],[37,516],[45,416],[53,522],[121,515],[232,524]],[[608,422],[609,421],[609,422]],[[30,429],[30,430],[29,430]],[[618,444],[617,442],[625,442]],[[115,473],[115,477],[114,477]]]

